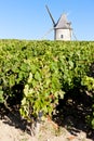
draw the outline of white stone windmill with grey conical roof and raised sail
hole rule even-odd
[[[67,15],[62,14],[62,16],[58,18],[57,23],[55,23],[48,5],[46,10],[49,12],[49,15],[53,22],[53,28],[54,28],[54,40],[71,40],[71,23],[68,22]]]

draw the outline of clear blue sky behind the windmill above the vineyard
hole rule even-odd
[[[94,0],[0,0],[0,39],[42,39],[52,28],[45,4],[55,22],[68,14],[78,40],[94,40]]]

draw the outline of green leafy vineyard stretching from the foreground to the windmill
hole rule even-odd
[[[52,118],[70,97],[80,103],[83,93],[94,129],[94,42],[0,40],[0,103],[6,108],[16,105],[33,123]]]

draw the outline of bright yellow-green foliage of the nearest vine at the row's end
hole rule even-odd
[[[38,117],[39,113],[51,115],[58,98],[64,98],[59,82],[59,73],[57,61],[49,60],[44,55],[36,57],[29,62],[31,72],[24,89],[24,99],[22,100],[21,114],[27,119]]]

